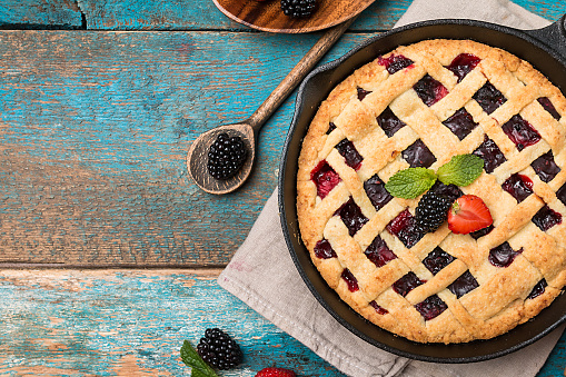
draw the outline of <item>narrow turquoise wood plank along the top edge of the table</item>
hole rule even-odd
[[[251,1],[251,0],[250,0]],[[553,0],[514,0],[515,3],[557,20],[564,9]],[[378,0],[350,30],[390,29],[410,0]],[[85,26],[81,16],[85,16]],[[4,0],[0,6],[0,27],[59,28],[86,27],[91,30],[250,30],[218,11],[212,1],[136,0]]]

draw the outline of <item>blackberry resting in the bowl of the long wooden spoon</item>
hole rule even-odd
[[[241,169],[247,157],[248,150],[241,138],[229,137],[222,132],[208,151],[208,172],[216,179],[232,178]]]

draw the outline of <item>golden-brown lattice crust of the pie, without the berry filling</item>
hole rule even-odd
[[[446,67],[461,53],[480,61],[458,82],[458,77]],[[410,59],[413,65],[391,75],[385,61],[393,56]],[[447,95],[431,106],[414,89],[427,75],[447,89]],[[486,82],[506,99],[490,113],[474,98]],[[359,96],[360,89],[365,97]],[[558,119],[542,106],[540,98],[552,102]],[[463,108],[477,127],[460,140],[443,122]],[[377,121],[387,109],[406,125],[391,136]],[[504,132],[503,125],[516,115],[536,129],[538,142],[518,147]],[[559,214],[562,220],[566,216],[566,206],[556,194],[562,188],[566,191],[565,136],[566,99],[528,62],[470,40],[427,40],[399,47],[339,83],[312,119],[302,142],[297,177],[297,210],[304,244],[340,298],[390,333],[419,343],[445,344],[507,333],[547,307],[566,284],[566,221],[543,230],[532,220],[545,206]],[[436,170],[455,155],[474,152],[487,137],[497,145],[505,161],[459,189],[485,201],[494,218],[489,234],[477,239],[456,235],[445,222],[407,247],[387,229],[406,209],[414,215],[419,198],[393,198],[376,209],[365,181],[377,175],[387,182],[395,172],[408,168],[404,151],[418,139],[436,158],[430,166]],[[363,158],[356,168],[336,148],[344,139]],[[544,181],[532,163],[549,151],[559,171]],[[324,161],[339,176],[339,182],[321,198],[312,175]],[[533,183],[533,194],[520,202],[502,188],[516,173],[528,177]],[[366,218],[354,235],[338,215],[350,198]],[[377,236],[396,256],[380,267],[365,254]],[[315,247],[322,240],[330,245],[334,256],[317,257]],[[489,260],[490,250],[503,244],[517,251],[508,267]],[[424,259],[438,247],[454,260],[433,274]],[[345,271],[354,277],[357,289],[350,289]],[[393,287],[409,272],[424,284],[401,295]],[[450,288],[463,274],[471,274],[477,287],[458,297]],[[542,281],[546,284],[544,291],[539,289],[534,295]],[[446,308],[434,318],[425,318],[417,308],[435,296]]]

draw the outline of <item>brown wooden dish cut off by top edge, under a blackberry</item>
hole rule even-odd
[[[284,14],[279,0],[212,0],[217,8],[236,22],[270,31],[298,33],[334,27],[359,14],[376,0],[318,0],[311,17],[294,19]]]

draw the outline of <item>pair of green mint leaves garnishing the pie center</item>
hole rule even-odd
[[[454,156],[437,172],[426,168],[408,168],[397,171],[385,189],[397,198],[415,199],[433,187],[437,179],[445,185],[471,185],[484,170],[484,160],[475,155]]]

